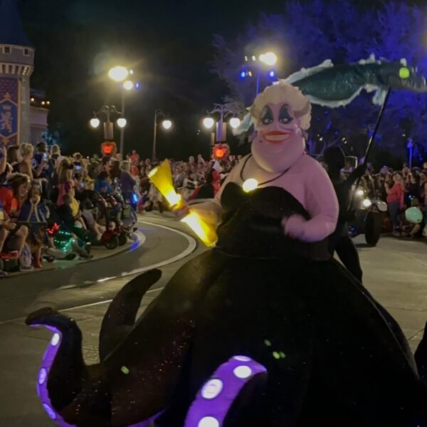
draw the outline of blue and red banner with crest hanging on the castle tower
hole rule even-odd
[[[18,144],[19,80],[0,78],[0,142]]]

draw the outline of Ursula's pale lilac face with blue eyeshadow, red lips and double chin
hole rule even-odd
[[[284,172],[297,162],[305,149],[300,119],[287,104],[267,104],[261,112],[252,154],[268,172]]]

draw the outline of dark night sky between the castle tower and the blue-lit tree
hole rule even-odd
[[[206,155],[209,135],[196,135],[199,118],[226,93],[209,73],[213,34],[236,36],[261,13],[280,13],[286,3],[21,0],[23,23],[36,47],[32,86],[46,90],[49,122],[64,123],[68,150],[90,154],[102,138],[88,129],[91,112],[103,102],[120,104],[119,90],[105,72],[115,62],[125,63],[143,85],[127,97],[126,151],[150,154],[154,110],[162,108],[175,126],[169,135],[159,134],[160,156]]]

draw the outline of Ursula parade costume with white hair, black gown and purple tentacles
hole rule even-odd
[[[427,425],[426,340],[417,366],[399,325],[329,258],[338,204],[304,154],[310,102],[281,83],[251,115],[251,154],[195,207],[220,223],[216,247],[136,322],[160,272],[125,285],[102,322],[99,364],[85,364],[74,320],[27,318],[54,332],[38,391],[61,426]]]

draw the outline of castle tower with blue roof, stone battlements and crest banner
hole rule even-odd
[[[30,142],[30,77],[34,48],[23,31],[18,0],[0,0],[0,143]]]

